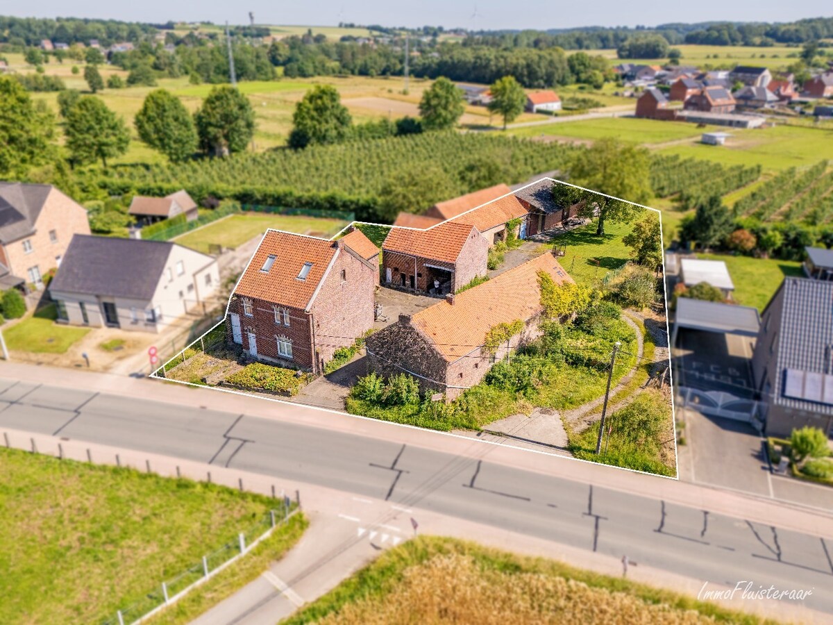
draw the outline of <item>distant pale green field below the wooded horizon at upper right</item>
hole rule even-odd
[[[777,69],[786,67],[796,60],[801,47],[773,46],[773,47],[746,47],[746,46],[698,46],[681,44],[676,47],[682,52],[681,65],[706,65],[713,67],[727,68],[735,65],[755,65],[759,67],[770,67]],[[650,59],[619,59],[616,57],[616,50],[586,50],[588,54],[601,54],[610,58],[613,62],[637,62],[646,65],[665,64],[667,58]],[[569,53],[569,52],[568,52]],[[794,55],[794,56],[791,56]]]

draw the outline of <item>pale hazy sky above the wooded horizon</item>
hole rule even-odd
[[[476,7],[476,8],[475,8]],[[578,26],[655,26],[660,23],[706,21],[792,22],[801,18],[833,15],[830,0],[776,2],[776,0],[2,0],[0,15],[18,17],[109,18],[130,22],[165,23],[211,21],[335,26],[339,22],[417,27],[423,25],[484,29],[571,28]],[[476,13],[476,18],[474,17]]]

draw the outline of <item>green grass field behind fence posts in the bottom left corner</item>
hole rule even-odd
[[[0,474],[0,622],[114,619],[273,505],[231,488],[16,450],[0,450]]]

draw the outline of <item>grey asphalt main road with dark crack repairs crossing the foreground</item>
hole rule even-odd
[[[730,587],[812,588],[806,607],[833,613],[833,541],[486,460],[0,378],[2,427],[294,478]]]

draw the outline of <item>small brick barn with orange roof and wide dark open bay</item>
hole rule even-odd
[[[393,228],[382,243],[382,273],[389,287],[441,296],[486,275],[489,243],[466,223],[427,230]]]

